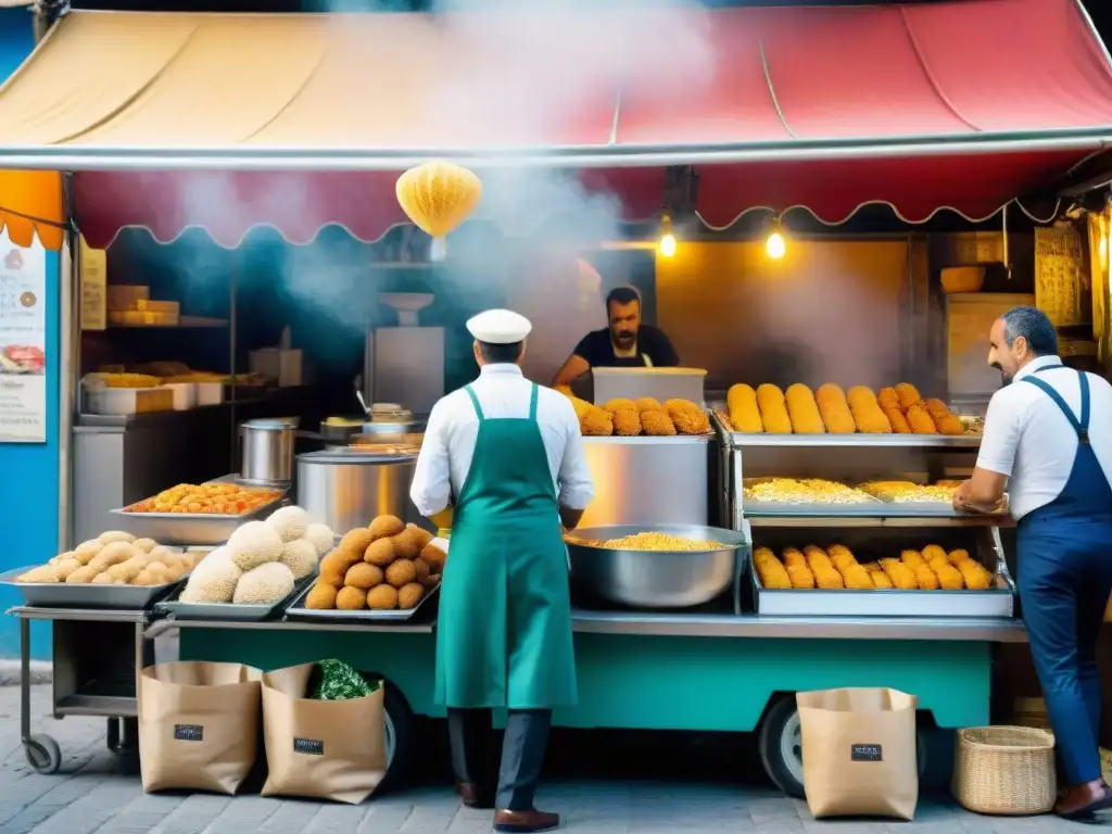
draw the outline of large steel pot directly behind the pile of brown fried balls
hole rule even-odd
[[[383,454],[358,447],[297,456],[297,503],[337,533],[394,515],[411,520],[409,485],[416,454]]]

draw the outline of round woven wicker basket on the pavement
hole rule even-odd
[[[1034,727],[957,732],[954,798],[979,814],[1022,816],[1054,807],[1054,736]]]

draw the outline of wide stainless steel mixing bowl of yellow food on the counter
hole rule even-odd
[[[613,603],[636,608],[689,608],[724,593],[737,573],[743,534],[695,525],[622,525],[578,529],[573,536],[594,540],[637,533],[719,542],[716,550],[618,550],[567,543],[572,575]]]

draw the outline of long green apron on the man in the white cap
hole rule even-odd
[[[576,703],[567,550],[537,427],[479,419],[456,502],[436,626],[436,702],[545,709]]]

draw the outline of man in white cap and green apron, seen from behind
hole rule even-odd
[[[577,697],[560,524],[579,523],[594,484],[570,400],[522,376],[528,319],[488,310],[467,329],[479,378],[433,408],[409,492],[425,516],[454,509],[436,701],[464,803],[495,808],[496,832],[550,831],[559,817],[533,797],[552,709]],[[497,792],[483,755],[494,707],[508,711]]]

